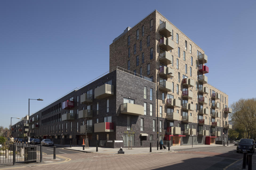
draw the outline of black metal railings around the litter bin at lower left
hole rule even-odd
[[[0,166],[40,160],[40,145],[26,143],[5,143],[0,145]]]

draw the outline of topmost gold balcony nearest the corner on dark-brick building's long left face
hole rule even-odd
[[[104,99],[112,95],[114,95],[114,86],[110,84],[103,84],[94,90],[95,99]]]

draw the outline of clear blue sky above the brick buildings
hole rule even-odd
[[[0,1],[0,125],[109,69],[109,45],[157,9],[208,56],[229,104],[256,96],[256,1]],[[101,68],[101,69],[99,69]],[[17,119],[16,119],[17,120]],[[17,122],[13,120],[13,122]]]

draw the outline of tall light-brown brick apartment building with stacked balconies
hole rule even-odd
[[[227,140],[232,110],[228,95],[207,83],[207,55],[157,10],[115,38],[109,55],[110,70],[123,67],[158,85],[154,106],[165,118],[159,127],[165,140],[189,145],[192,134],[198,144]]]

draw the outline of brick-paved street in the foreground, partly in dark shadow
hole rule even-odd
[[[102,148],[100,148],[102,149]],[[56,154],[71,160],[57,164],[37,164],[37,169],[223,169],[242,158],[236,146],[216,146],[176,149],[174,152],[148,154],[82,153],[56,148]],[[117,149],[118,150],[118,149]],[[53,154],[53,147],[43,147],[45,154]],[[241,168],[241,167],[240,167]],[[26,169],[19,168],[19,169]]]

